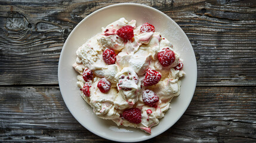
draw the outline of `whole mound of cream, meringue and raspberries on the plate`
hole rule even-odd
[[[81,97],[94,113],[151,133],[180,95],[183,60],[152,24],[120,18],[76,51]]]

